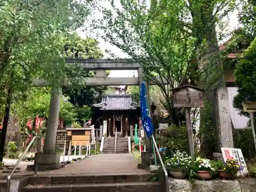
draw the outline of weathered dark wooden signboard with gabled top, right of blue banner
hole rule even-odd
[[[173,91],[173,103],[175,108],[203,108],[203,92],[204,90],[185,85],[175,88]]]

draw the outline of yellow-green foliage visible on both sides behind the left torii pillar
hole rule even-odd
[[[25,133],[24,130],[28,120],[34,119],[36,115],[45,119],[48,118],[50,98],[50,88],[31,88],[27,92],[25,101],[20,100],[12,104],[12,113],[17,114],[20,131]],[[62,96],[59,119],[63,120],[64,124],[71,124],[77,121],[78,118],[91,118],[90,107],[77,108],[68,100],[68,97]]]

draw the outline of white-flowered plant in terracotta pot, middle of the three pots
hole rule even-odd
[[[211,167],[210,160],[200,157],[194,161],[192,168],[200,179],[211,179],[215,173],[215,168]]]

